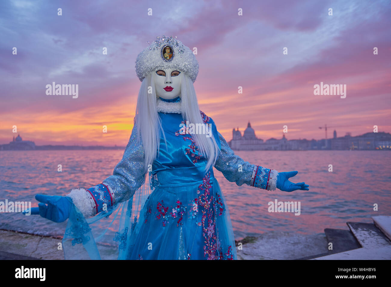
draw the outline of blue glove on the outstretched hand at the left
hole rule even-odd
[[[41,202],[38,203],[38,207],[32,207],[31,214],[39,214],[54,222],[63,222],[69,217],[70,208],[73,205],[72,198],[36,194],[35,199]],[[28,210],[25,210],[23,214],[27,212]]]

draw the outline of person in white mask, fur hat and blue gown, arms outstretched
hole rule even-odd
[[[172,53],[168,56],[167,51]],[[176,37],[157,37],[136,59],[142,82],[134,126],[113,175],[67,196],[36,195],[32,214],[68,225],[65,258],[83,246],[102,258],[100,239],[118,259],[236,259],[227,203],[213,167],[237,185],[273,191],[309,190],[280,172],[245,162],[199,110],[193,83],[198,62]],[[118,232],[113,226],[118,225]],[[95,226],[104,231],[95,232]],[[110,237],[111,236],[111,237]],[[74,251],[72,251],[74,249]]]

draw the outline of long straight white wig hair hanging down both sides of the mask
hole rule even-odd
[[[150,93],[148,93],[148,91]],[[152,92],[152,93],[151,93]],[[188,75],[183,73],[181,79],[181,103],[182,103],[182,117],[189,121],[189,123],[203,124],[201,114],[198,107],[197,95],[195,94],[193,82]],[[156,91],[155,81],[153,75],[148,75],[142,81],[140,92],[137,98],[135,124],[137,128],[137,139],[142,139],[145,161],[144,169],[147,171],[148,165],[153,163],[156,155],[160,152],[160,136],[163,133],[161,120],[156,108]],[[178,129],[179,129],[178,123]],[[192,138],[198,147],[198,152],[208,159],[205,165],[205,171],[211,166],[214,166],[217,156],[219,155],[219,146],[215,138],[206,137],[206,134],[192,134]]]

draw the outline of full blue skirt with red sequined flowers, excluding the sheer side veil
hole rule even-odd
[[[157,187],[130,237],[126,259],[233,259],[235,242],[216,179]]]

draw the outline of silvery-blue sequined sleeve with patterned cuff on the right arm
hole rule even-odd
[[[278,171],[250,164],[235,155],[227,141],[218,132],[221,142],[221,152],[216,160],[215,168],[221,171],[224,177],[237,185],[247,184],[266,190],[275,190]]]

